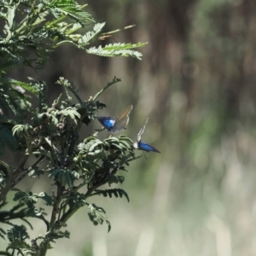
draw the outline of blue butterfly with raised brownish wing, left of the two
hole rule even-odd
[[[111,132],[118,132],[126,129],[129,122],[129,113],[131,112],[132,105],[125,108],[125,110],[119,114],[118,118],[111,116],[99,116],[97,119],[104,126],[105,129]]]

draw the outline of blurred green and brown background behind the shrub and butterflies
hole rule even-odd
[[[256,3],[255,0],[89,1],[97,21],[115,33],[103,44],[148,42],[143,61],[102,58],[62,47],[44,71],[17,70],[52,87],[64,76],[84,99],[117,76],[122,82],[99,99],[102,115],[133,104],[125,135],[161,154],[131,163],[125,199],[92,198],[112,224],[94,227],[86,209],[68,223],[70,240],[53,255],[256,255]],[[100,128],[84,129],[84,136]],[[102,135],[107,137],[108,133]],[[34,193],[53,189],[26,179]],[[36,224],[33,234],[44,234]]]

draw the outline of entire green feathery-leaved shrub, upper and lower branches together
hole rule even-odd
[[[11,255],[46,255],[56,239],[69,238],[65,228],[67,221],[80,208],[88,207],[88,216],[93,224],[111,225],[102,207],[89,203],[95,195],[112,198],[129,196],[123,189],[100,189],[103,185],[123,183],[130,161],[137,160],[130,138],[120,135],[100,140],[96,131],[81,141],[83,125],[90,125],[96,113],[105,108],[97,98],[120,79],[113,78],[105,88],[82,100],[76,86],[60,78],[63,94],[48,102],[48,85],[44,81],[29,78],[25,83],[6,77],[10,68],[26,66],[34,70],[44,68],[49,51],[61,44],[72,44],[85,53],[102,56],[132,56],[141,59],[141,53],[134,50],[144,44],[88,45],[100,38],[105,23],[97,23],[84,7],[73,0],[23,0],[8,2],[0,0],[0,19],[4,22],[0,35],[0,155],[6,148],[23,154],[19,166],[10,166],[0,161],[0,208],[8,202],[6,196],[17,183],[28,176],[48,176],[55,186],[51,195],[44,192],[16,191],[15,206],[0,211],[0,222],[13,226],[6,233],[0,229],[0,236],[9,239],[7,251]],[[92,27],[90,29],[90,27]],[[87,30],[87,31],[86,31]],[[110,32],[112,33],[112,32]],[[104,34],[102,34],[104,37]],[[105,33],[106,35],[106,33]],[[37,103],[32,106],[32,97]],[[73,98],[76,102],[73,103]],[[29,117],[29,119],[27,118]],[[30,165],[26,162],[30,160]],[[17,190],[17,189],[16,189]],[[46,217],[38,201],[52,208]],[[44,236],[38,236],[30,243],[24,225],[14,224],[19,218],[32,228],[29,218],[38,218],[46,226]],[[3,252],[0,252],[0,254]]]

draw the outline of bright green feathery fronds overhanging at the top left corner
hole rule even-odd
[[[108,44],[88,48],[101,37],[105,22],[95,20],[74,0],[0,1],[0,72],[10,67],[44,68],[50,51],[71,44],[89,54],[132,56],[141,59],[133,48],[144,44]]]

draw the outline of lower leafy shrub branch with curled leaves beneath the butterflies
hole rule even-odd
[[[110,85],[119,82],[114,78]],[[111,229],[110,222],[105,216],[102,207],[96,207],[89,202],[90,197],[103,195],[112,198],[129,196],[123,189],[101,189],[103,185],[111,186],[114,183],[123,183],[125,177],[119,172],[126,171],[132,160],[136,160],[134,148],[130,138],[120,135],[119,137],[107,137],[100,140],[97,137],[99,131],[90,137],[80,140],[79,131],[82,125],[90,125],[96,119],[96,112],[106,106],[90,96],[83,101],[75,89],[74,84],[66,79],[60,78],[58,84],[63,86],[64,95],[61,94],[54,102],[47,101],[47,87],[43,82],[32,81],[31,86],[38,95],[38,107],[33,109],[31,122],[14,125],[12,128],[13,138],[18,150],[26,154],[26,159],[35,156],[31,166],[20,169],[11,168],[6,162],[0,162],[2,166],[2,196],[5,188],[12,188],[19,183],[23,177],[41,177],[47,175],[55,184],[55,191],[52,195],[44,192],[33,194],[32,192],[18,191],[15,193],[14,201],[18,204],[7,212],[0,212],[0,221],[4,224],[12,224],[12,220],[20,218],[31,225],[26,218],[38,218],[46,225],[46,235],[40,237],[42,240],[37,243],[38,252],[44,252],[50,247],[50,242],[61,237],[68,237],[65,227],[67,220],[73,216],[79,208],[88,207],[88,217],[93,224],[108,224],[108,231]],[[73,103],[76,98],[78,103]],[[5,169],[4,169],[5,168]],[[84,191],[85,188],[85,192]],[[44,208],[36,207],[38,200],[53,208],[50,219],[46,219]],[[18,227],[18,226],[17,226]],[[0,230],[0,236],[5,231]],[[32,245],[23,241],[15,243],[11,241],[10,247],[19,245],[20,249],[32,250]],[[30,251],[29,251],[30,252]],[[41,255],[40,254],[40,255]]]

